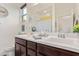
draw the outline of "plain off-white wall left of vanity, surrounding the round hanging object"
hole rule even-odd
[[[0,18],[0,53],[15,46],[19,32],[19,9],[12,4],[0,4],[8,10],[8,16]]]

